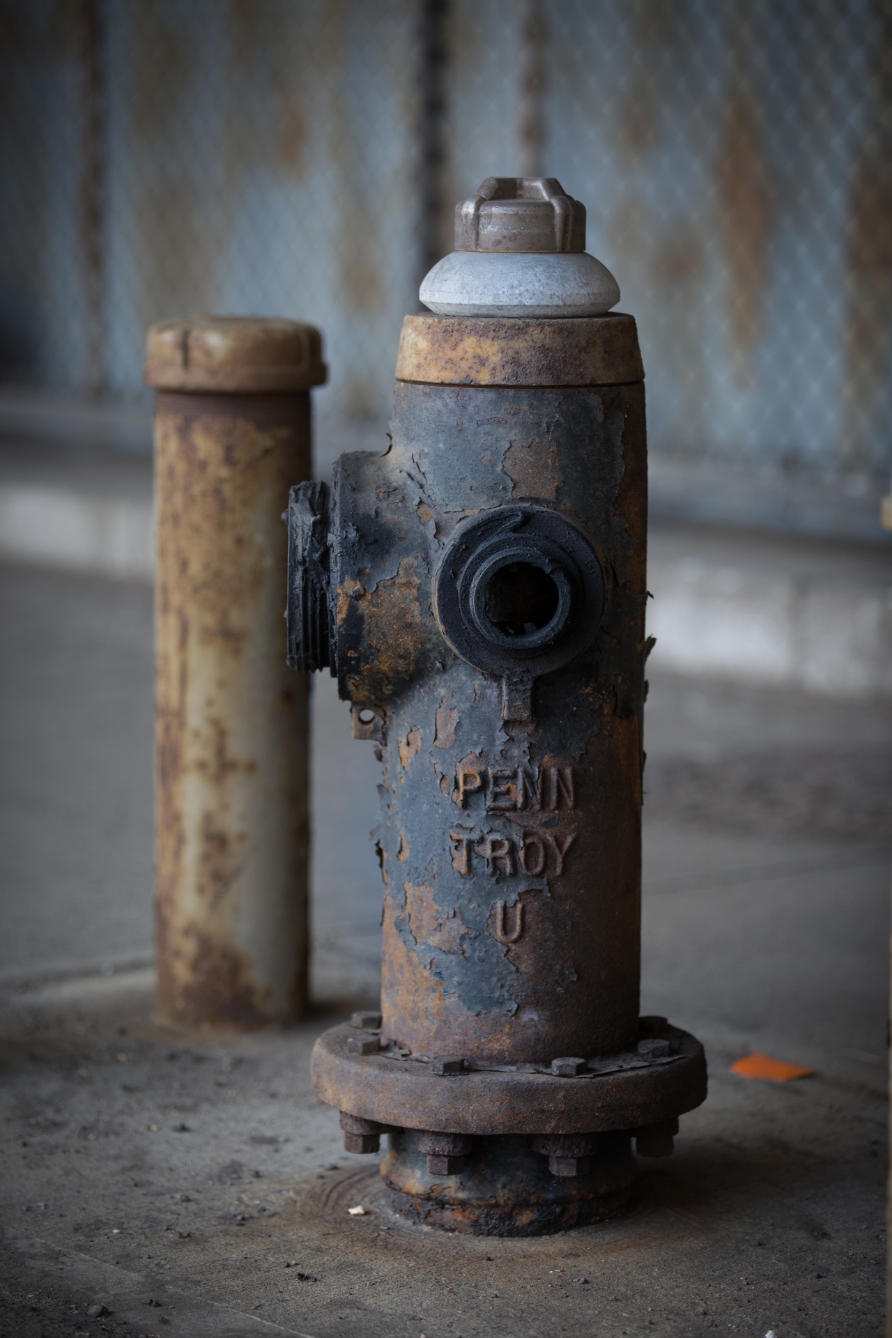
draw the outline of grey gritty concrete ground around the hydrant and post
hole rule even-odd
[[[378,950],[377,768],[328,678],[313,1017],[152,1024],[150,613],[0,569],[0,1334],[880,1333],[888,704],[654,673],[642,1012],[705,1041],[710,1096],[627,1218],[469,1239],[392,1219],[309,1084]],[[740,1078],[752,1049],[816,1073]]]

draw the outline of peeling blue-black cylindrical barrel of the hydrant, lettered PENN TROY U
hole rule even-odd
[[[515,384],[480,384],[471,324]],[[384,698],[382,1034],[491,1064],[638,1040],[641,359],[631,317],[567,321],[567,385],[543,324],[407,317],[386,458],[439,535],[428,637],[453,654]],[[397,642],[400,583],[376,587]]]

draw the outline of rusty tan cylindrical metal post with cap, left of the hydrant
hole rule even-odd
[[[320,334],[154,325],[158,1017],[300,1016],[308,967],[308,681],[284,666],[289,483],[310,468]]]

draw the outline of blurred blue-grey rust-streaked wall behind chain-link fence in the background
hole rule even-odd
[[[148,450],[150,321],[294,316],[325,333],[325,470],[382,440],[455,202],[544,173],[639,321],[655,514],[881,541],[892,0],[4,0],[0,23],[0,428],[92,404]]]

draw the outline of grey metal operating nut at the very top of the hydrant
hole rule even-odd
[[[586,206],[555,177],[487,177],[455,209],[459,252],[584,252]]]

